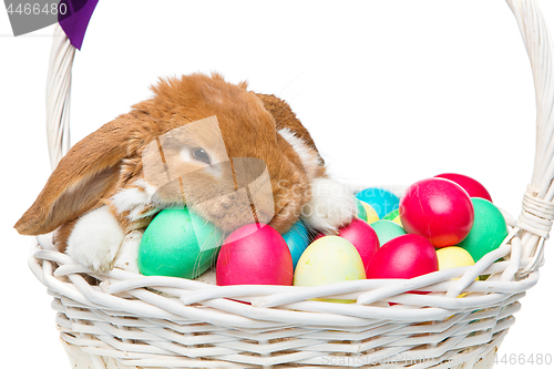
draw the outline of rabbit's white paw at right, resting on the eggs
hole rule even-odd
[[[301,218],[308,227],[330,235],[350,224],[356,212],[356,199],[346,185],[329,178],[315,178],[311,198],[304,206]]]

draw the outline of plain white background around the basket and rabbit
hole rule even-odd
[[[538,3],[554,29],[554,1]],[[2,367],[69,368],[51,298],[27,266],[31,239],[12,228],[49,175],[51,32],[10,37],[0,10]],[[408,185],[458,172],[520,212],[534,157],[534,90],[504,1],[101,1],[75,58],[72,142],[150,96],[158,76],[195,71],[286,99],[342,181]],[[554,355],[547,246],[501,357]]]

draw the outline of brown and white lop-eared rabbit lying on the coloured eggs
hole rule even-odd
[[[187,206],[227,233],[252,223],[253,213],[244,209],[254,204],[256,221],[280,233],[299,217],[324,233],[351,221],[352,194],[327,177],[308,131],[283,100],[218,74],[161,80],[152,90],[152,99],[68,152],[16,224],[20,234],[57,230],[59,249],[94,270],[109,270],[124,242],[136,245],[160,209],[183,204],[184,192]],[[163,147],[163,165],[146,167],[147,148],[162,150],[167,137],[173,141]],[[267,186],[250,188],[248,196],[228,189],[229,178],[239,187],[235,158],[244,157],[265,163],[254,170],[266,171],[271,201]],[[165,178],[168,166],[178,181]]]

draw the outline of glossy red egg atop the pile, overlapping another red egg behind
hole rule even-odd
[[[468,193],[452,181],[427,178],[410,185],[400,201],[406,232],[429,239],[434,247],[458,245],[473,225]]]

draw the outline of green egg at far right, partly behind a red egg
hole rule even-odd
[[[470,234],[458,246],[465,248],[475,263],[485,254],[499,248],[507,236],[507,225],[504,216],[493,203],[473,197],[475,221]]]

